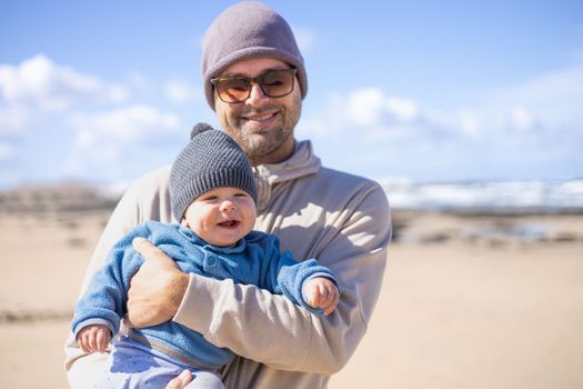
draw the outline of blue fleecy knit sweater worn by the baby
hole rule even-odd
[[[336,282],[333,273],[314,259],[299,262],[289,251],[281,253],[279,239],[273,235],[252,231],[234,247],[223,248],[207,243],[180,225],[149,221],[121,239],[110,250],[105,266],[93,276],[87,292],[77,302],[71,323],[76,338],[90,325],[104,325],[113,335],[119,331],[120,320],[127,313],[130,278],[143,262],[131,245],[137,237],[162,249],[184,272],[255,285],[273,293],[283,293],[316,315],[322,315],[322,310],[311,308],[302,298],[303,282],[316,276]],[[173,321],[133,329],[131,337],[197,368],[215,370],[233,356],[231,350],[219,348],[201,333]]]

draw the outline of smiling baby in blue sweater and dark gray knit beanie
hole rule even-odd
[[[314,315],[334,310],[338,281],[328,268],[315,259],[296,261],[280,251],[275,236],[252,231],[258,196],[253,171],[228,134],[203,123],[192,130],[172,164],[170,193],[180,223],[138,226],[111,249],[78,301],[71,328],[83,352],[104,352],[120,329],[131,276],[143,262],[132,248],[138,237],[162,249],[184,272],[257,285]],[[189,369],[194,379],[187,388],[223,388],[218,371],[232,357],[201,333],[168,321],[119,337],[107,369],[88,379],[96,388],[163,388]]]

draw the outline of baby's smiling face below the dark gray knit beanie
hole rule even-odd
[[[214,246],[231,246],[255,223],[255,202],[238,188],[214,188],[187,208],[181,225]]]

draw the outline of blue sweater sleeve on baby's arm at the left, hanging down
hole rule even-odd
[[[140,255],[132,248],[132,240],[150,235],[148,225],[140,225],[111,248],[105,266],[93,276],[76,305],[71,322],[76,338],[81,329],[97,323],[109,327],[112,335],[119,331],[120,321],[127,312],[130,278],[142,263]]]

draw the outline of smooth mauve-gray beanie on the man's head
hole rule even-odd
[[[288,22],[268,6],[257,1],[234,4],[214,19],[204,34],[202,79],[207,101],[214,109],[211,78],[237,61],[269,57],[298,68],[302,98],[308,92],[303,58]]]

